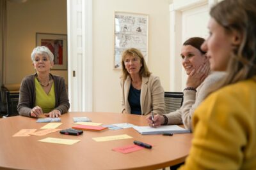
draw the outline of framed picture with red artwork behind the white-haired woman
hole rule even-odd
[[[67,70],[67,35],[36,32],[36,46],[47,46],[54,55],[55,70]]]

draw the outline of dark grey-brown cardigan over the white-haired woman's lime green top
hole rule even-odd
[[[35,107],[36,93],[35,93],[35,76],[32,74],[23,78],[20,85],[20,96],[17,110],[19,114],[25,117],[30,116],[30,112]],[[67,113],[69,109],[68,95],[65,85],[65,80],[61,76],[54,76],[51,74],[54,81],[55,89],[55,108],[60,110],[61,114]]]

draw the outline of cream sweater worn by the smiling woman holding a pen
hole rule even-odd
[[[184,90],[183,104],[179,110],[166,114],[168,124],[184,124],[186,129],[192,130],[192,116],[195,109],[208,96],[209,88],[225,76],[225,72],[215,71],[194,90]]]

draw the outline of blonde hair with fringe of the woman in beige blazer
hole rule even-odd
[[[140,62],[142,64],[142,66],[140,68],[139,74],[141,77],[150,76],[151,73],[148,71],[148,67],[147,67],[145,59],[143,57],[143,54],[140,52],[140,50],[138,50],[136,48],[129,48],[129,49],[125,50],[122,54],[122,76],[121,76],[122,80],[126,80],[127,76],[129,75],[128,71],[125,69],[125,64],[124,64],[124,60],[127,55],[131,55],[133,57],[140,58]]]

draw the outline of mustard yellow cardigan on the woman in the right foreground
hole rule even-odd
[[[256,81],[211,94],[196,109],[194,139],[180,169],[256,169]]]

